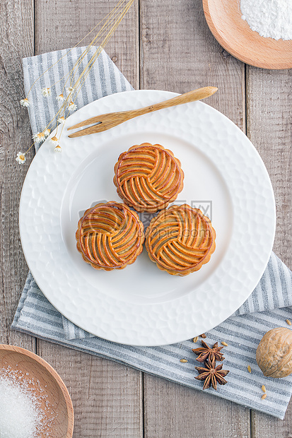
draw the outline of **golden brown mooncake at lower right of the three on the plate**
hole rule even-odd
[[[146,249],[159,269],[173,276],[199,271],[215,251],[216,232],[199,208],[171,206],[151,220]]]

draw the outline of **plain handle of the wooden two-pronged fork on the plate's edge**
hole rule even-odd
[[[218,88],[216,87],[204,87],[204,88],[199,88],[198,90],[192,90],[180,96],[173,97],[172,99],[163,100],[163,102],[150,105],[149,107],[134,109],[132,111],[133,114],[131,114],[130,118],[132,119],[133,117],[140,116],[141,114],[147,114],[148,112],[158,111],[158,109],[175,107],[177,105],[182,105],[183,103],[194,102],[195,100],[202,100],[216,93],[217,90]]]

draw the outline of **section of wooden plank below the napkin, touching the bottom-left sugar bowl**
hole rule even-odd
[[[38,345],[38,354],[59,372],[71,395],[74,437],[143,437],[139,371],[49,342]]]

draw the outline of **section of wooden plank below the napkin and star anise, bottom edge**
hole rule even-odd
[[[250,437],[249,409],[146,374],[144,406],[145,438]]]

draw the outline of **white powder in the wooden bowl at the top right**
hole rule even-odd
[[[292,40],[292,0],[241,0],[243,20],[262,37]]]

